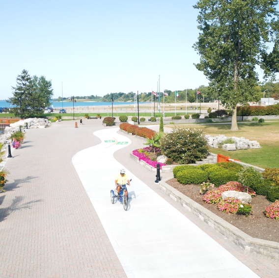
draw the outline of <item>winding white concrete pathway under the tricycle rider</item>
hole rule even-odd
[[[127,277],[258,277],[132,173],[128,211],[111,203],[114,177],[123,167],[113,153],[131,143],[117,130],[96,131],[102,143],[72,161]]]

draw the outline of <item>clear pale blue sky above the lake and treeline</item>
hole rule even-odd
[[[23,69],[54,98],[207,85],[194,63],[196,0],[13,0],[0,8],[0,99]]]

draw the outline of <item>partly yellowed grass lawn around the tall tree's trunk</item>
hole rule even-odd
[[[181,125],[179,125],[180,127]],[[183,125],[189,128],[203,129],[207,135],[219,135],[245,137],[260,143],[260,149],[248,149],[239,151],[224,151],[223,149],[209,148],[210,152],[221,153],[232,159],[240,159],[261,168],[279,167],[279,122],[268,123],[238,123],[238,131],[231,131],[231,124],[224,125]],[[170,126],[173,127],[173,126]]]

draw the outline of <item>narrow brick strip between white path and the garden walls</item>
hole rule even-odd
[[[140,166],[135,160],[131,159],[129,152],[132,150],[145,147],[142,145],[142,140],[136,138],[135,136],[120,133],[121,135],[127,136],[131,141],[128,147],[121,149],[114,153],[114,158],[123,164],[129,171],[131,171],[135,176],[139,177],[146,185],[152,188],[156,193],[163,197],[167,202],[179,210],[183,215],[190,219],[197,227],[201,228],[204,232],[210,235],[215,241],[217,241],[223,248],[234,255],[242,263],[248,266],[254,273],[256,273],[261,278],[278,278],[279,277],[279,260],[273,259],[264,255],[253,254],[245,252],[240,249],[237,245],[226,239],[222,234],[218,233],[212,227],[201,221],[194,214],[184,209],[177,202],[172,200],[169,196],[164,194],[159,186],[154,184],[156,179],[155,173],[151,173],[146,168]],[[163,178],[173,177],[172,173],[162,173]],[[202,251],[201,251],[202,252]]]

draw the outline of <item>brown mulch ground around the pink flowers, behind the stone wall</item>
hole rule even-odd
[[[176,178],[167,180],[167,184],[250,236],[279,242],[279,220],[267,218],[263,213],[265,208],[272,203],[265,196],[257,195],[252,198],[252,213],[246,217],[236,213],[225,213],[219,210],[216,204],[202,201],[203,195],[199,194],[199,185],[184,185],[179,183]]]

